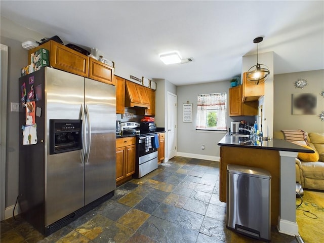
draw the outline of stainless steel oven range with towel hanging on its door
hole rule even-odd
[[[141,178],[157,169],[157,148],[154,146],[156,134],[148,133],[137,136],[135,177]]]

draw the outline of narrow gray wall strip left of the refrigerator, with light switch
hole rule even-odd
[[[1,36],[1,43],[8,46],[6,208],[14,205],[18,196],[18,134],[22,132],[18,126],[18,112],[10,111],[10,103],[19,102],[18,78],[20,69],[27,65],[28,51],[14,39]]]

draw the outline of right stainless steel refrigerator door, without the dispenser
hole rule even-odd
[[[91,137],[85,159],[85,205],[116,188],[115,87],[85,78],[85,107]]]

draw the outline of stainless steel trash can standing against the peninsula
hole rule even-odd
[[[271,174],[263,169],[227,165],[226,227],[270,241]]]

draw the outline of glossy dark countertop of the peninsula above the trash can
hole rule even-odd
[[[234,137],[226,134],[221,141],[218,142],[220,146],[230,147],[247,147],[256,149],[270,149],[290,152],[302,152],[302,153],[314,153],[314,150],[304,148],[294,143],[288,142],[283,139],[271,139],[271,140],[257,140],[252,141],[246,137]]]

